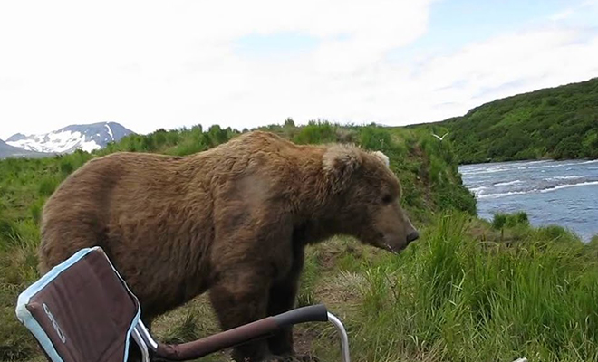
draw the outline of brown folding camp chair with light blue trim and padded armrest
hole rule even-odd
[[[341,336],[342,359],[349,341],[342,322],[322,304],[298,308],[193,342],[162,344],[141,322],[140,303],[100,247],[85,248],[55,266],[18,298],[16,316],[53,362],[124,362],[130,338],[144,362],[150,355],[189,360],[259,338],[298,323],[330,321]]]

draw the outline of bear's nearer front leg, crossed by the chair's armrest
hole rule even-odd
[[[209,291],[209,299],[221,329],[233,329],[267,317],[268,281],[256,268],[226,271],[219,278]],[[261,339],[233,348],[231,357],[237,362],[256,362],[270,357],[268,352],[267,342]]]

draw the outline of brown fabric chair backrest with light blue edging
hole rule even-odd
[[[140,318],[139,302],[101,248],[73,255],[19,300],[19,319],[63,362],[123,362],[135,343],[130,331]]]

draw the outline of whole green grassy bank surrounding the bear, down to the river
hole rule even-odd
[[[297,143],[348,141],[384,151],[422,232],[399,256],[340,238],[308,250],[299,304],[324,302],[346,323],[354,361],[598,360],[598,239],[584,245],[562,228],[533,229],[523,214],[477,220],[451,144],[426,129],[298,128],[290,119],[265,129]],[[43,360],[14,303],[38,277],[42,206],[64,177],[106,153],[188,155],[238,133],[160,129],[92,155],[0,161],[0,360]],[[155,329],[166,341],[216,331],[205,298],[162,316]],[[302,326],[296,334],[300,350],[340,360],[331,326]]]

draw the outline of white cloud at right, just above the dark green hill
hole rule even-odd
[[[460,112],[483,102],[598,75],[598,37],[556,28],[511,33],[468,45],[433,59],[416,81],[435,84],[439,100],[462,104]],[[458,87],[451,84],[462,82]],[[429,90],[426,90],[429,91]]]

